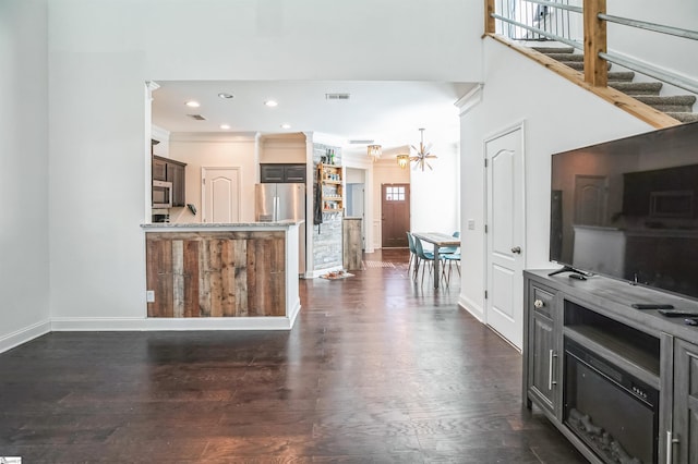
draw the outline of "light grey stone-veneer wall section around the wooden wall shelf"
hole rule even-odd
[[[335,164],[341,166],[341,148],[313,144],[313,188],[317,188],[317,164],[327,149],[335,151]],[[315,195],[313,195],[313,202]],[[315,205],[313,205],[314,207]],[[312,224],[313,264],[315,271],[342,267],[341,218],[339,213],[323,213],[323,223]]]

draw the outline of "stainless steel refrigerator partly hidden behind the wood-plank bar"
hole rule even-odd
[[[304,184],[256,184],[254,211],[260,222],[305,220]],[[298,273],[305,273],[305,222],[298,228]]]

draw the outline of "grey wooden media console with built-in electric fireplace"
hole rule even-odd
[[[633,304],[698,302],[525,271],[524,402],[592,463],[698,463],[698,326]]]

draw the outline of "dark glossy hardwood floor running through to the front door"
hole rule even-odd
[[[0,355],[0,456],[33,463],[581,463],[521,356],[405,251],[301,281],[290,332],[55,332]],[[397,262],[384,265],[383,262]]]

